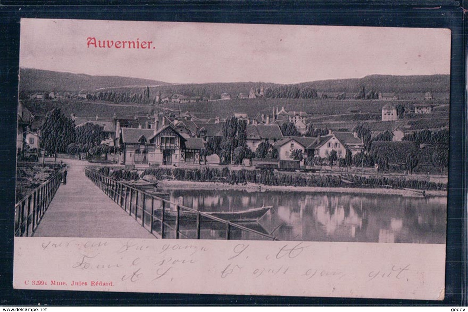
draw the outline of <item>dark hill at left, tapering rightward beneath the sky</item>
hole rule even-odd
[[[155,80],[120,77],[72,74],[50,70],[20,68],[20,92],[35,91],[95,91],[99,88],[118,88],[125,86],[154,86],[168,84]]]

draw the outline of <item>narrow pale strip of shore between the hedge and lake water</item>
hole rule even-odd
[[[247,192],[283,191],[283,192],[316,192],[316,193],[360,193],[360,194],[388,194],[402,195],[406,197],[422,197],[422,192],[392,188],[358,188],[358,187],[321,187],[321,186],[267,186],[247,183],[243,185],[231,185],[221,182],[192,182],[163,180],[158,188],[179,188],[193,190],[237,190]],[[427,196],[446,197],[447,191],[426,191]]]

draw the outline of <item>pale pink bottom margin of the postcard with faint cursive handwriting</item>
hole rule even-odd
[[[20,238],[15,287],[437,299],[439,252],[443,245]]]

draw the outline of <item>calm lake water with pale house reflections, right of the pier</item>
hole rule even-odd
[[[172,202],[182,196],[184,206],[200,211],[240,211],[273,206],[258,220],[258,224],[245,226],[261,229],[280,240],[446,242],[446,197],[235,190],[168,191]],[[225,231],[219,226],[212,226],[204,238],[224,238]],[[241,231],[237,234],[234,232],[230,238],[256,239]]]

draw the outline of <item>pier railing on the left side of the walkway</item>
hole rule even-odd
[[[37,229],[62,182],[63,169],[24,196],[15,205],[15,236],[31,236]]]

